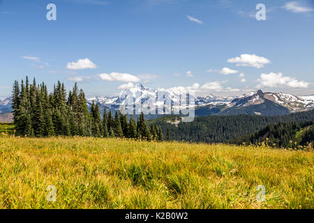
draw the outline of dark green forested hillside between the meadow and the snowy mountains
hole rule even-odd
[[[170,139],[184,141],[200,141],[208,143],[227,142],[238,139],[257,130],[265,128],[271,123],[303,123],[314,121],[314,111],[298,112],[284,116],[204,116],[195,118],[191,123],[179,123],[174,125],[176,118],[163,117],[151,122],[156,122],[163,129],[163,134],[170,129]],[[172,121],[172,123],[170,123]]]

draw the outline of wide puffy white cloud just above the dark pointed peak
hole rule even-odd
[[[304,81],[298,81],[294,77],[285,77],[283,73],[279,72],[278,74],[271,72],[269,74],[260,75],[260,78],[257,79],[260,84],[257,85],[257,88],[261,87],[276,87],[276,86],[289,86],[291,88],[307,88],[310,83]]]

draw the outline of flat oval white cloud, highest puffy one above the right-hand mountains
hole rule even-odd
[[[250,66],[254,68],[263,68],[265,64],[271,63],[269,59],[255,54],[241,54],[227,60],[228,63],[237,63],[237,66]]]

